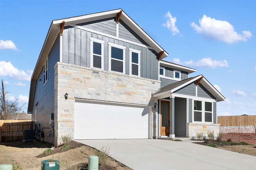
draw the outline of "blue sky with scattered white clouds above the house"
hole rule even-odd
[[[122,8],[168,54],[226,98],[218,115],[256,115],[256,1],[0,0],[0,79],[28,102],[52,20]],[[26,112],[26,109],[24,110]]]

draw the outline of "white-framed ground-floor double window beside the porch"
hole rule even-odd
[[[194,121],[212,123],[212,102],[194,100]]]

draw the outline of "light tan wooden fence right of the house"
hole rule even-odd
[[[218,116],[220,126],[253,126],[256,125],[256,115]]]

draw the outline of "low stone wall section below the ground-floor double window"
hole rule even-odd
[[[207,138],[207,131],[214,131],[214,138],[220,133],[220,124],[211,123],[188,123],[188,136],[196,139],[196,133],[204,133]]]

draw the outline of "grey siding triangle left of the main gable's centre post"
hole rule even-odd
[[[116,36],[116,17],[77,24],[85,28]]]

